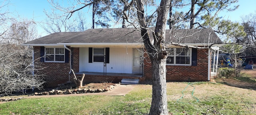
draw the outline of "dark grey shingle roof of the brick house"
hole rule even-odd
[[[148,32],[152,39],[152,32]],[[210,34],[209,34],[210,33]],[[171,37],[170,37],[171,36]],[[166,42],[176,43],[222,43],[209,29],[166,30]],[[134,28],[88,29],[84,32],[57,32],[25,44],[57,43],[137,43],[141,42],[139,30]]]

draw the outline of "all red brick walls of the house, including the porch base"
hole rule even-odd
[[[72,50],[72,68],[74,72],[79,72],[79,48],[70,48]],[[208,50],[197,50],[197,65],[166,65],[166,80],[167,81],[207,81],[208,80]],[[69,52],[70,59],[70,52]],[[147,56],[145,54],[145,56]],[[53,62],[40,62],[40,47],[34,47],[34,59],[35,63],[44,67],[40,70],[45,75],[45,81],[47,87],[56,86],[60,83],[68,81],[68,73],[70,71],[70,63],[53,63]],[[70,62],[70,60],[69,60]],[[150,59],[147,57],[144,60],[144,77],[138,77],[132,79],[144,79],[152,78],[152,65]],[[82,75],[80,75],[82,76]],[[73,81],[74,76],[70,74],[70,81]],[[127,76],[110,76],[110,75],[86,75],[84,82],[120,82],[123,78],[131,78]]]

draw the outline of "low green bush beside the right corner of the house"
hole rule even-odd
[[[235,77],[234,71],[235,71],[234,68],[229,68],[229,67],[220,68],[218,70],[218,77],[219,78],[233,78],[233,77]]]

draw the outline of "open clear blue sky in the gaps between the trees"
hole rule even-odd
[[[35,22],[42,22],[46,19],[44,14],[44,9],[50,11],[50,4],[47,0],[10,0],[10,6],[8,9],[12,14],[20,16],[20,18],[26,18],[28,20],[33,19]],[[224,17],[224,19],[229,19],[233,22],[241,22],[241,17],[252,14],[256,11],[256,0],[239,0],[237,3],[240,5],[238,9],[233,12],[220,12],[218,16]],[[17,15],[18,14],[18,15]],[[90,15],[90,14],[87,14]],[[90,17],[90,16],[88,16]],[[38,35],[46,36],[48,35],[39,24]]]

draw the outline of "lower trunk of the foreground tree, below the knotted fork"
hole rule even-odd
[[[150,115],[168,115],[166,95],[166,57],[151,58],[152,62],[152,102]]]

